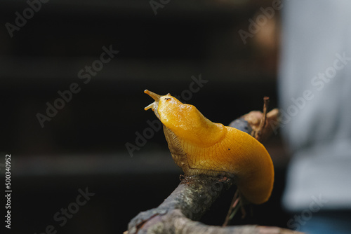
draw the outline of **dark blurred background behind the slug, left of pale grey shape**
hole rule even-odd
[[[176,188],[181,171],[161,130],[133,153],[126,149],[156,119],[143,109],[152,102],[145,89],[181,96],[201,76],[208,82],[183,97],[224,124],[261,110],[264,96],[277,106],[279,11],[247,43],[238,33],[271,1],[169,1],[156,15],[150,2],[50,0],[11,37],[6,23],[30,16],[29,4],[0,1],[0,172],[4,178],[11,153],[11,233],[44,233],[49,225],[58,233],[121,233]],[[100,60],[103,46],[119,53],[85,84],[78,73]],[[42,128],[37,114],[46,116],[46,103],[72,83],[80,91]],[[280,206],[288,157],[279,134],[267,150],[276,170],[272,198],[234,224],[285,227],[289,220]],[[61,227],[54,215],[76,201],[79,188],[95,195]],[[201,221],[221,225],[233,194]]]

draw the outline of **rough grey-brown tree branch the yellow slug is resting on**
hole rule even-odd
[[[267,101],[265,101],[267,110]],[[278,111],[267,116],[260,111],[251,111],[233,121],[230,126],[253,134],[260,141],[267,139],[277,127]],[[274,129],[272,128],[274,127]],[[272,128],[272,130],[268,129]],[[259,132],[259,133],[258,133]],[[208,226],[199,222],[218,196],[225,192],[233,181],[227,177],[210,177],[204,174],[184,177],[171,195],[159,207],[140,212],[128,224],[124,234],[135,233],[201,233],[201,234],[274,234],[298,233],[292,230],[265,226]]]

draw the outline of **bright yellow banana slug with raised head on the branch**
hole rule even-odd
[[[270,198],[273,163],[258,140],[236,128],[212,123],[195,106],[170,94],[144,92],[154,99],[145,110],[152,109],[161,121],[172,158],[185,175],[231,177],[241,195],[253,204]]]

